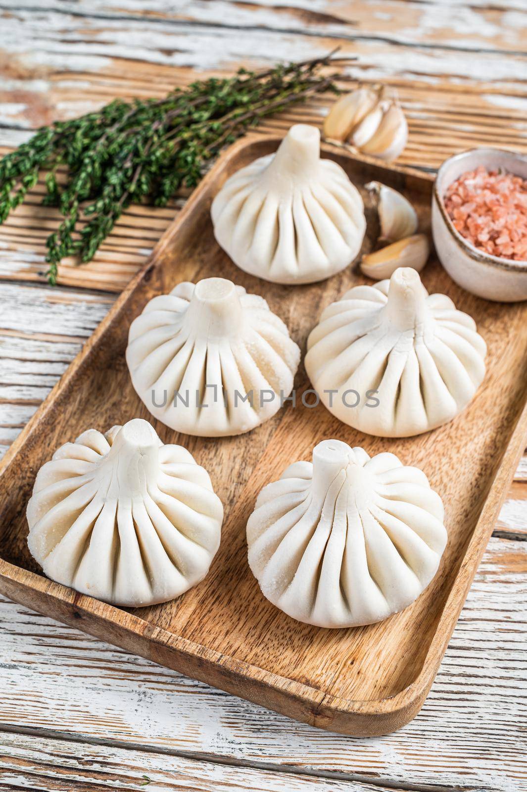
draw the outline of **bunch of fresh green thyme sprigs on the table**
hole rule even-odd
[[[46,171],[44,204],[63,220],[47,238],[47,279],[66,256],[90,261],[130,204],[164,206],[195,186],[210,158],[260,119],[311,93],[334,91],[324,76],[333,53],[233,78],[210,78],[164,99],[112,101],[97,112],[41,128],[0,160],[0,223]],[[66,183],[57,179],[66,167]]]

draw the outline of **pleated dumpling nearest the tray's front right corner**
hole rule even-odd
[[[270,600],[321,627],[371,624],[413,602],[446,544],[442,500],[393,454],[324,440],[256,500],[248,562]]]

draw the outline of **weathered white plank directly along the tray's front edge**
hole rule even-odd
[[[396,788],[519,792],[527,788],[525,571],[527,543],[491,539],[423,710],[375,740],[290,721],[3,600],[0,728]]]

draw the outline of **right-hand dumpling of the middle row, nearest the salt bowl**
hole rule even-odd
[[[308,338],[305,369],[340,421],[371,435],[409,437],[461,413],[483,380],[486,354],[470,316],[446,295],[428,295],[415,269],[399,268],[324,310]]]

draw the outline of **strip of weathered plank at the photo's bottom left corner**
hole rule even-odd
[[[201,762],[184,756],[0,732],[1,790],[107,792],[388,792],[385,786],[296,772]],[[403,786],[398,787],[404,790]],[[460,787],[461,789],[461,787]]]

